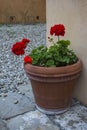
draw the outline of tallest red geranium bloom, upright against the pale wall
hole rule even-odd
[[[64,27],[64,25],[63,24],[54,25],[50,29],[50,34],[51,35],[55,34],[55,36],[64,36],[64,34],[65,34],[65,27]]]

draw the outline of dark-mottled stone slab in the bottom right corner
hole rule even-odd
[[[56,115],[52,121],[64,130],[87,130],[87,107],[77,104],[64,114]]]

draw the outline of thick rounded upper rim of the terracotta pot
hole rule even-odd
[[[46,76],[46,75],[55,75],[56,76],[66,76],[70,74],[79,73],[82,70],[82,61],[78,59],[75,64],[67,65],[63,67],[40,67],[34,66],[32,64],[26,63],[24,64],[24,69],[28,74],[34,74],[36,76]]]

